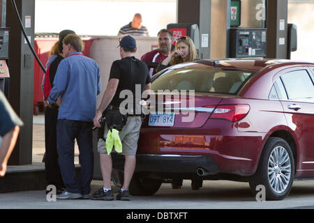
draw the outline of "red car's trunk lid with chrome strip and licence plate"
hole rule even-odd
[[[149,115],[143,127],[200,128],[221,100],[221,95],[208,93],[157,93],[153,100],[147,100]]]

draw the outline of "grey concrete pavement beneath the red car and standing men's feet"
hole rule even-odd
[[[93,180],[92,192],[102,187]],[[118,188],[112,186],[114,194]],[[184,180],[179,190],[163,183],[160,190],[149,197],[132,197],[131,201],[57,200],[48,202],[45,190],[0,194],[0,208],[28,209],[314,209],[314,180],[296,181],[283,201],[257,202],[248,183],[227,180],[204,181],[201,190],[191,190],[190,180]]]

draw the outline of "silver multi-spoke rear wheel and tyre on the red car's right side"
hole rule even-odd
[[[262,151],[256,173],[249,180],[255,198],[264,186],[264,199],[277,201],[289,194],[294,180],[294,157],[289,144],[279,137],[270,137]],[[258,194],[262,195],[262,194]]]

